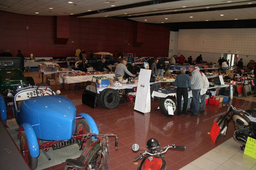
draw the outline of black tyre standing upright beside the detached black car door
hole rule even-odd
[[[103,93],[103,91],[101,93]],[[109,95],[112,95],[113,97],[110,103],[108,103]],[[113,109],[119,104],[120,95],[115,89],[106,89],[105,93],[101,94],[100,99],[101,99],[100,102],[104,107]]]

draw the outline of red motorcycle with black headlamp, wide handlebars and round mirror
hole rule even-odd
[[[171,146],[167,145],[163,148],[159,146],[160,143],[154,138],[151,138],[147,142],[148,151],[145,151],[144,153],[140,153],[140,155],[136,158],[134,158],[134,162],[137,160],[143,158],[145,155],[147,155],[140,163],[140,166],[137,170],[165,170],[166,169],[166,162],[164,160],[164,153],[169,148],[175,148],[175,149],[186,149],[185,146],[176,146],[172,144]],[[132,145],[133,151],[139,150],[139,145],[137,143]],[[164,150],[164,151],[163,151]]]

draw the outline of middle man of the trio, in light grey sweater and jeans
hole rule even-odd
[[[202,75],[195,69],[195,66],[190,65],[188,71],[192,74],[191,76],[191,90],[193,95],[193,104],[189,113],[193,113],[190,116],[197,116],[199,111],[199,95],[202,89]]]

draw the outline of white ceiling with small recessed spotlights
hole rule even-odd
[[[14,12],[26,15],[70,15],[81,14],[88,10],[97,11],[108,8],[120,7],[129,4],[148,2],[149,0],[111,0],[112,3],[104,3],[104,0],[0,0],[0,10]],[[166,2],[162,0],[154,1],[158,4],[145,5],[140,7],[115,10],[111,12],[102,12],[80,17],[128,17],[129,19],[146,23],[171,23],[171,22],[190,22],[205,20],[234,20],[234,19],[256,19],[256,7],[241,9],[225,9],[219,7],[256,4],[256,0],[176,0]],[[231,1],[227,3],[228,1]],[[73,2],[69,4],[68,2]],[[166,3],[164,3],[166,2]],[[183,7],[186,6],[186,7]],[[217,11],[187,12],[191,10],[205,10],[206,7],[219,8]],[[53,9],[49,9],[53,8]],[[181,12],[177,14],[161,14],[164,12]],[[187,13],[183,13],[183,12]],[[38,12],[36,14],[35,12]],[[127,13],[127,14],[124,14]],[[154,16],[144,16],[147,14],[156,14]],[[220,16],[223,14],[224,16]],[[129,17],[131,15],[131,18]],[[135,17],[138,16],[138,17]],[[193,18],[190,18],[193,17]],[[165,19],[168,18],[168,19]],[[147,20],[147,21],[145,21]]]

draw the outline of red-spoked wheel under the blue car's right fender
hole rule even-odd
[[[79,129],[79,128],[80,128],[80,129]],[[82,128],[82,129],[81,129],[81,128]],[[92,129],[91,129],[89,123],[88,123],[87,120],[85,120],[85,119],[81,119],[81,120],[79,120],[79,121],[77,122],[75,134],[76,134],[76,135],[77,135],[77,134],[81,134],[81,130],[84,131],[83,134],[87,134],[87,133],[91,133],[91,132],[92,132]],[[92,141],[94,141],[93,137],[90,137],[89,140],[88,140],[88,139],[85,140],[85,141],[83,142],[83,145],[82,145],[82,149],[81,149],[81,150],[83,150],[84,147],[85,147],[88,143],[91,143]],[[77,144],[80,145],[80,140],[79,140],[79,139],[77,140]]]

